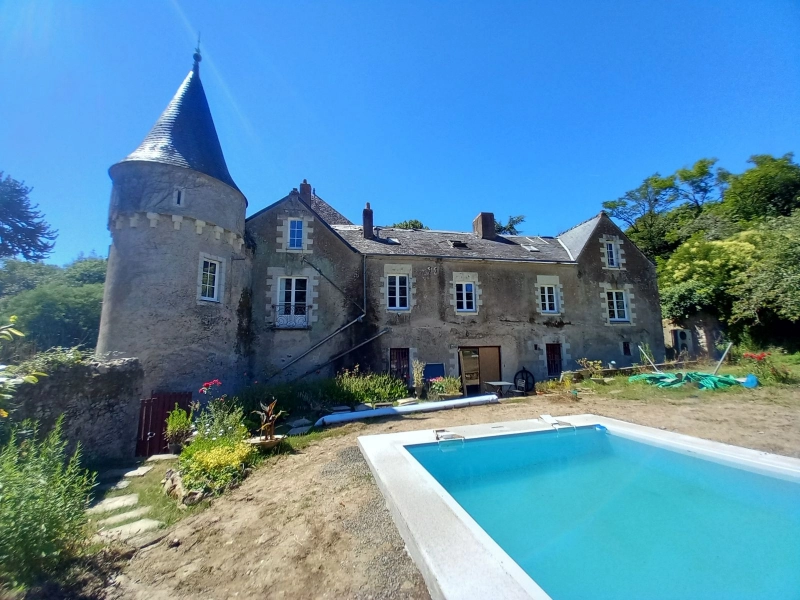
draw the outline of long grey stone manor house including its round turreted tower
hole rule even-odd
[[[303,180],[245,218],[200,60],[109,170],[97,350],[138,357],[145,389],[356,364],[410,382],[417,359],[474,393],[523,367],[539,381],[581,357],[630,365],[639,344],[663,358],[655,266],[604,213],[557,236],[496,235],[491,212],[465,232],[393,229],[370,203],[352,223]]]

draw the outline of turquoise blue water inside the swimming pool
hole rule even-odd
[[[800,483],[595,428],[407,446],[554,600],[798,599]]]

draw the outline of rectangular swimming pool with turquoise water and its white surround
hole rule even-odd
[[[800,461],[567,419],[359,440],[434,597],[798,597]]]

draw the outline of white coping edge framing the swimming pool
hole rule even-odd
[[[800,483],[800,459],[597,415],[572,415],[558,419],[576,426],[603,425],[615,435]],[[549,430],[552,427],[539,419],[447,429],[466,439]],[[559,435],[570,435],[570,429],[562,428]],[[431,442],[436,442],[436,434],[431,429],[358,438],[361,452],[431,597],[434,600],[549,599],[550,596],[405,449],[410,444]]]

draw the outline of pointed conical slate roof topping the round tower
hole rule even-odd
[[[200,81],[200,55],[195,54],[194,59],[192,70],[150,133],[120,162],[146,161],[184,167],[239,190],[228,173]]]

